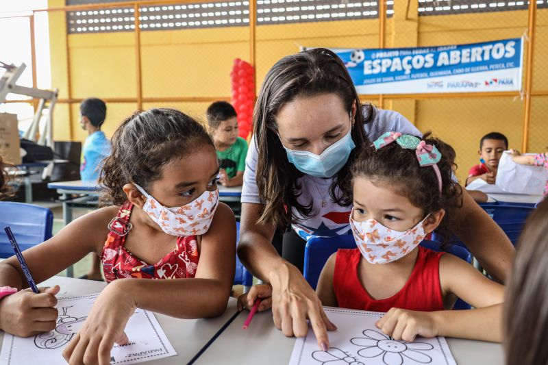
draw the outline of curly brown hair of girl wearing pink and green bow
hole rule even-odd
[[[404,149],[392,142],[375,150],[373,146],[362,148],[351,166],[352,179],[343,185],[343,192],[348,199],[353,197],[353,179],[366,177],[373,184],[390,184],[403,197],[409,199],[412,205],[421,208],[425,216],[431,212],[445,210],[445,216],[436,229],[443,237],[443,244],[449,242],[449,225],[453,210],[462,206],[462,188],[453,180],[455,165],[455,150],[449,144],[432,138],[429,133],[421,140],[431,144],[441,154],[437,163],[440,170],[442,190],[440,193],[438,178],[432,166],[421,166],[416,158],[416,151]]]

